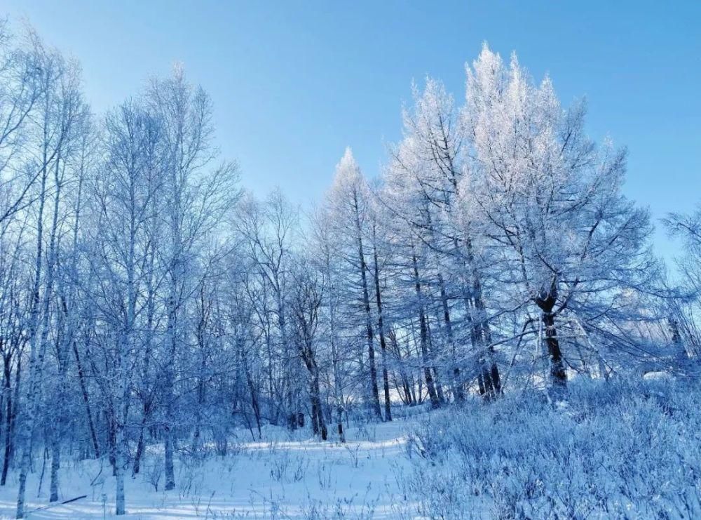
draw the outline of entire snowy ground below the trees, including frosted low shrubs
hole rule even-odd
[[[168,492],[154,446],[126,479],[126,517],[701,518],[700,394],[696,380],[582,378],[550,399],[531,390],[430,412],[397,406],[411,418],[351,421],[346,444],[312,439],[308,429],[268,426],[263,441],[239,430],[224,456],[193,456],[182,442]],[[64,456],[61,500],[86,498],[38,511],[49,478],[47,467],[41,479],[41,458],[34,466],[29,518],[114,517],[107,460]],[[13,517],[16,495],[11,474],[0,518]]]

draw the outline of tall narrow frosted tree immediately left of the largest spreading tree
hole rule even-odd
[[[477,373],[486,396],[500,392],[491,348],[475,237],[459,219],[465,131],[453,98],[440,81],[414,86],[414,105],[403,114],[404,138],[393,149],[386,205],[426,250],[426,282],[442,343],[440,358],[455,399]]]

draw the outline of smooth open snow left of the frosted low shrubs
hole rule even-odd
[[[290,519],[398,518],[411,509],[400,491],[409,472],[407,420],[351,426],[338,444],[266,429],[264,439],[240,439],[226,456],[209,455],[198,464],[179,465],[177,486],[163,491],[158,453],[149,453],[135,479],[126,479],[130,519]],[[243,432],[241,435],[243,436]],[[249,436],[250,439],[250,436]],[[27,486],[30,519],[111,518],[114,477],[109,462],[66,460],[60,470],[60,500],[87,495],[67,505],[48,505],[48,462],[41,492],[41,460]],[[158,483],[156,491],[155,483]],[[13,518],[17,476],[0,488],[0,518]]]

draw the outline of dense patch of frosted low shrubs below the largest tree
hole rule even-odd
[[[428,416],[407,492],[430,518],[701,514],[700,387],[578,381],[562,401],[515,394]]]

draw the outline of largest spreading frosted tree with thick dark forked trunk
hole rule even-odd
[[[637,314],[632,293],[657,274],[648,213],[621,193],[625,149],[597,147],[583,103],[563,109],[552,81],[533,84],[515,55],[507,66],[485,46],[466,99],[463,219],[493,250],[504,307],[537,309],[554,384],[568,366],[584,368],[564,352],[558,323],[578,331],[568,342],[594,349],[605,373],[615,324]]]

